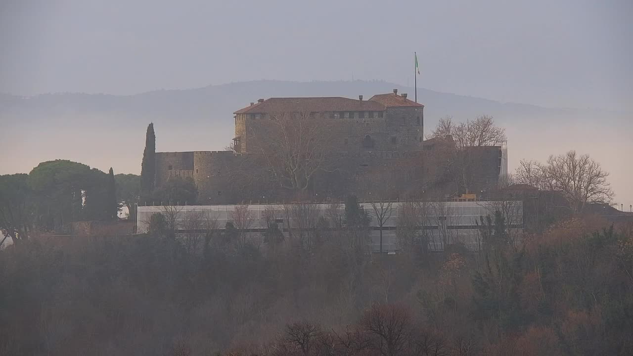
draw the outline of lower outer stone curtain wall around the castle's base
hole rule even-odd
[[[498,177],[498,148],[478,152],[477,180],[473,188],[482,189]],[[446,179],[441,161],[442,151],[358,151],[335,153],[336,168],[315,177],[312,193],[315,200],[344,198],[353,193],[359,198],[388,196],[421,198],[427,191],[441,190]],[[240,155],[232,151],[194,151],[156,153],[156,186],[170,177],[192,177],[200,204],[230,204],[242,201],[283,201],[286,189],[266,181],[261,174],[265,163],[258,155]],[[171,165],[173,170],[166,170]],[[177,169],[190,168],[191,169]],[[452,187],[451,187],[452,188]],[[448,189],[447,191],[449,191]]]

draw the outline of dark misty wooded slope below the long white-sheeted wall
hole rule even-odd
[[[232,229],[189,251],[149,234],[31,238],[0,251],[2,355],[630,355],[633,225],[561,219],[480,251],[372,255],[363,214],[309,246]],[[491,224],[492,222],[492,224]]]

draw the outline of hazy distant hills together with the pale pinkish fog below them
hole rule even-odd
[[[0,94],[5,151],[0,155],[0,174],[28,172],[42,160],[54,158],[78,160],[106,170],[112,165],[116,172],[138,174],[149,122],[156,127],[159,151],[218,150],[234,136],[233,111],[251,101],[280,96],[358,98],[359,94],[368,99],[392,89],[413,98],[412,87],[362,80],[257,80],[132,96],[61,93],[25,98]],[[620,147],[630,147],[630,113],[500,103],[423,88],[418,88],[418,102],[425,105],[425,133],[445,115],[457,121],[482,114],[494,116],[508,130],[511,168],[520,158],[545,160],[550,153],[573,148],[590,153],[605,166],[613,160],[613,167],[607,168],[613,176],[618,175],[614,181],[625,173],[618,171],[622,167],[616,167],[615,160]],[[620,190],[624,189],[631,188]],[[630,196],[633,200],[633,192]]]

